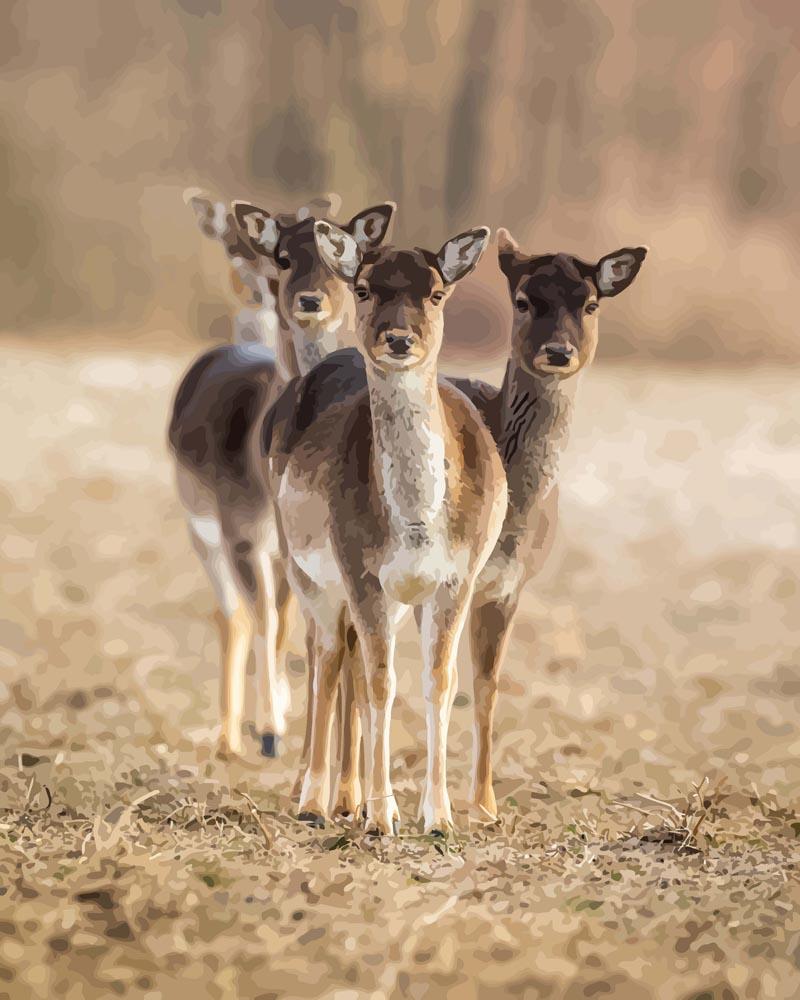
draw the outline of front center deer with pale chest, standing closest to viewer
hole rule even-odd
[[[337,383],[334,355],[284,391],[264,424],[262,453],[287,571],[313,624],[311,747],[298,818],[323,826],[330,800],[335,693],[353,671],[365,742],[368,832],[397,834],[389,731],[400,621],[422,636],[428,831],[452,827],[447,733],[456,652],[472,590],[506,512],[506,478],[477,409],[438,378],[443,307],[482,256],[485,228],[437,253],[365,248],[318,221],[321,260],[353,289],[365,379]],[[344,352],[348,353],[348,352]],[[359,655],[349,655],[358,649]]]

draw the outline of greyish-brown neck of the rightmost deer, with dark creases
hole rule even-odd
[[[498,450],[508,477],[509,514],[523,522],[555,485],[575,383],[574,376],[531,375],[513,359],[506,368]]]

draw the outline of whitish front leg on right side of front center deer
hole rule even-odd
[[[422,818],[425,831],[453,826],[447,792],[447,732],[456,695],[458,640],[469,608],[469,588],[440,588],[422,607],[422,690],[428,731],[428,763]]]

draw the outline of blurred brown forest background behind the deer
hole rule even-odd
[[[348,217],[392,198],[395,240],[430,247],[476,224],[646,243],[601,356],[800,357],[793,0],[5,0],[0,22],[2,331],[223,336],[199,185],[334,190]],[[502,348],[504,297],[487,260],[455,313],[483,317],[474,349]]]

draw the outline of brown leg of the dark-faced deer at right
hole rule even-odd
[[[511,635],[516,601],[479,602],[470,613],[472,639],[475,728],[472,760],[472,804],[479,819],[497,819],[492,788],[492,726],[497,703],[497,681]]]

